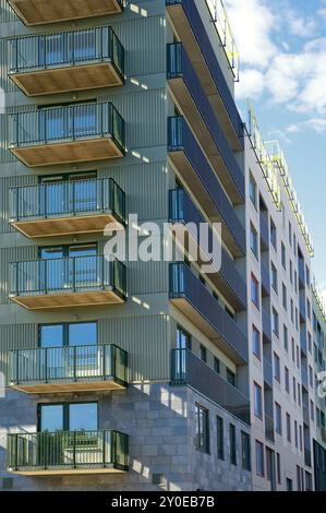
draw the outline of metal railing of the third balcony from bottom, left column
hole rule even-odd
[[[44,259],[11,264],[11,297],[112,289],[126,296],[126,270],[104,255]]]

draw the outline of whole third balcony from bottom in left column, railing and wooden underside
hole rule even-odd
[[[12,263],[10,299],[28,310],[121,305],[125,266],[104,255]]]

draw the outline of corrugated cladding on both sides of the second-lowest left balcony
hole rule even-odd
[[[37,324],[0,325],[0,372],[9,381],[9,351],[37,347]],[[129,354],[130,381],[168,380],[170,375],[169,319],[143,315],[98,322],[99,344],[117,344]]]

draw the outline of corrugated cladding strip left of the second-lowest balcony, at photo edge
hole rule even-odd
[[[2,324],[0,325],[0,372],[9,382],[9,351],[37,347],[37,324]]]

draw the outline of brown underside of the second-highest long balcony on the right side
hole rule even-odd
[[[227,168],[219,150],[217,148],[215,141],[206,127],[205,121],[190,93],[183,77],[169,79],[168,81],[170,92],[179,104],[181,111],[188,119],[192,130],[196,134],[206,156],[215,169],[216,175],[222,182],[226,191],[228,192],[231,201],[234,204],[243,202],[243,199],[234,187],[233,180]]]

